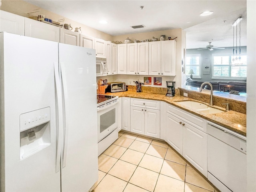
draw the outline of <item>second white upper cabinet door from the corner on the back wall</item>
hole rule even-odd
[[[137,43],[127,44],[127,74],[137,74]]]

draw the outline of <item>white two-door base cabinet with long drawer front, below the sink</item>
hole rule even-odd
[[[206,120],[166,104],[166,142],[207,177]]]

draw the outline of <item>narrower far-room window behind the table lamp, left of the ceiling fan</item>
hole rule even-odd
[[[187,54],[186,55],[186,75],[190,76],[190,69],[193,70],[193,78],[201,77],[201,55],[200,54]]]

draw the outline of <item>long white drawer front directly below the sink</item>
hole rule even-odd
[[[190,114],[184,110],[174,107],[170,104],[166,104],[166,112],[173,114],[174,116],[181,118],[183,121],[188,122],[192,126],[198,128],[202,132],[206,133],[206,120],[196,115]]]

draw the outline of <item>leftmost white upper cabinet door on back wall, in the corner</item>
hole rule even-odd
[[[117,52],[117,74],[127,74],[127,44],[118,44]]]

